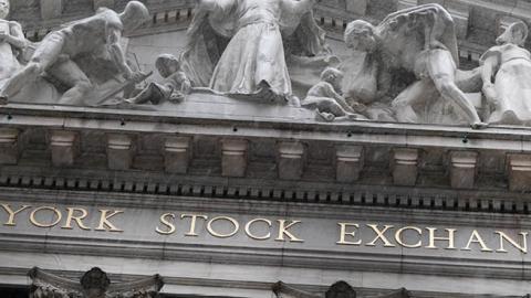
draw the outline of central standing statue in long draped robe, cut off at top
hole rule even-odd
[[[313,20],[315,2],[198,1],[181,57],[185,72],[197,87],[285,102],[293,93],[289,68],[311,64],[301,56],[327,53],[324,31]]]

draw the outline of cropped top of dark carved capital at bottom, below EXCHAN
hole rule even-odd
[[[272,290],[277,298],[361,298],[356,290],[347,283],[341,280],[332,286],[324,292],[324,295],[313,294],[304,291],[287,285],[282,281],[278,281],[273,285]],[[393,290],[386,294],[376,296],[364,296],[363,298],[409,298],[409,291],[405,288]]]

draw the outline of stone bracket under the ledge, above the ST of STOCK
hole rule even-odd
[[[186,173],[191,157],[190,137],[168,137],[164,141],[164,168],[170,173]]]

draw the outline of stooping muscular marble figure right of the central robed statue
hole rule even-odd
[[[427,99],[441,97],[455,105],[472,128],[486,126],[456,85],[454,21],[439,4],[397,11],[376,26],[362,20],[351,22],[345,41],[350,47],[366,53],[361,92],[355,91],[355,84],[350,88],[354,97],[376,102],[392,95],[397,120],[406,123],[421,123],[416,107],[424,110]],[[405,87],[400,89],[400,85]]]

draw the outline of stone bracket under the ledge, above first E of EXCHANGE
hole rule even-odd
[[[335,177],[339,182],[350,183],[360,180],[364,162],[362,146],[339,146],[335,149]]]

